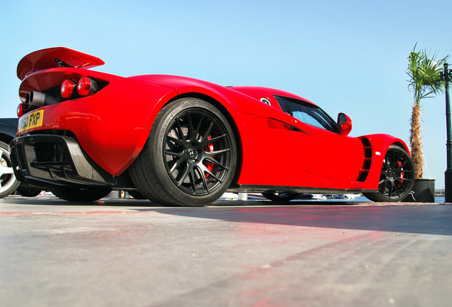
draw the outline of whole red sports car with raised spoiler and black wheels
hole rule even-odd
[[[267,87],[224,87],[172,75],[118,77],[68,48],[30,53],[22,80],[20,181],[92,201],[129,190],[161,205],[208,205],[225,193],[276,201],[300,193],[363,193],[399,201],[414,184],[407,145],[387,134],[348,136],[316,104]]]

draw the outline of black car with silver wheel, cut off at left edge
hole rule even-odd
[[[39,195],[43,188],[27,183],[20,183],[14,176],[9,158],[9,142],[16,137],[18,119],[0,119],[0,198],[13,194],[15,191],[26,197]]]

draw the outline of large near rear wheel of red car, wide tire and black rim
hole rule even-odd
[[[235,136],[225,116],[204,100],[185,98],[158,113],[129,173],[154,203],[203,206],[229,188],[236,164]]]

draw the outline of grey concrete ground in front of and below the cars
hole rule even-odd
[[[451,306],[452,205],[0,200],[0,306]]]

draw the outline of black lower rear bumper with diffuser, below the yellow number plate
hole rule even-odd
[[[112,188],[130,185],[97,166],[69,136],[21,136],[11,141],[10,153],[16,178],[26,183]]]

